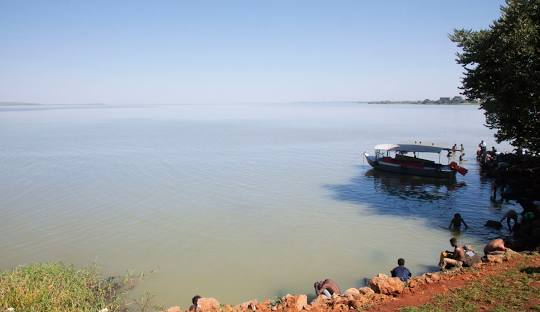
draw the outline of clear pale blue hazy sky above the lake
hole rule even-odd
[[[0,101],[187,104],[459,93],[454,28],[502,0],[0,0]]]

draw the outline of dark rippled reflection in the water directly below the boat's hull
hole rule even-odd
[[[455,179],[444,180],[388,173],[375,169],[368,170],[365,177],[373,182],[375,191],[383,192],[400,199],[434,201],[446,199],[450,192],[466,186]]]

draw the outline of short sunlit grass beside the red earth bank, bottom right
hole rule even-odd
[[[534,283],[534,284],[533,284]],[[424,311],[540,311],[540,268],[514,268],[436,296],[430,303],[401,309]]]

